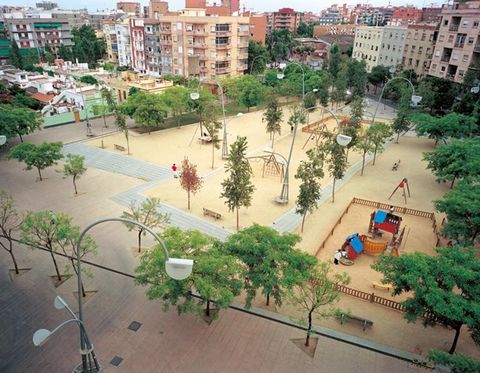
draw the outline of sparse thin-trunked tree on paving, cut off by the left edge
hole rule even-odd
[[[11,195],[0,190],[0,238],[7,240],[8,244],[0,240],[2,246],[12,258],[15,273],[18,275],[18,264],[13,254],[13,235],[22,225],[22,216],[15,207],[15,201]]]

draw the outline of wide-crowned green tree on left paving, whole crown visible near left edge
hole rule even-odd
[[[62,159],[62,147],[63,144],[61,142],[44,142],[41,145],[26,142],[15,146],[10,151],[8,159],[24,162],[27,165],[26,170],[31,170],[32,167],[35,167],[40,181],[42,181],[41,171],[56,165],[57,161]]]

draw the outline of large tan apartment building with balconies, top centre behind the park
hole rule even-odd
[[[213,79],[248,68],[248,17],[209,17],[203,9],[185,9],[162,16],[157,35],[161,74]]]

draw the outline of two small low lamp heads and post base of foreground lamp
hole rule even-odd
[[[75,312],[72,311],[72,309],[68,306],[67,302],[65,302],[61,297],[57,296],[55,297],[54,301],[54,306],[56,309],[61,310],[61,309],[66,309],[70,315],[72,316],[72,319],[66,320],[62,322],[60,325],[58,325],[55,329],[52,331],[48,329],[39,329],[33,334],[33,344],[35,346],[41,346],[43,345],[50,336],[55,334],[57,331],[59,331],[61,328],[63,328],[65,325],[70,324],[70,323],[77,323],[78,328],[80,329],[80,337],[82,338],[83,341],[83,347],[80,350],[80,353],[82,354],[82,364],[78,365],[77,367],[74,368],[73,372],[74,373],[100,373],[102,372],[102,368],[100,364],[97,361],[97,358],[95,356],[95,352],[93,351],[93,345],[90,343],[90,339],[88,338],[87,331],[85,330],[85,326],[83,324],[83,321],[80,320]],[[85,365],[84,363],[85,362]]]

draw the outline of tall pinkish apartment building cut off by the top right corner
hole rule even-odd
[[[444,5],[429,75],[461,83],[468,70],[480,71],[480,1]]]

